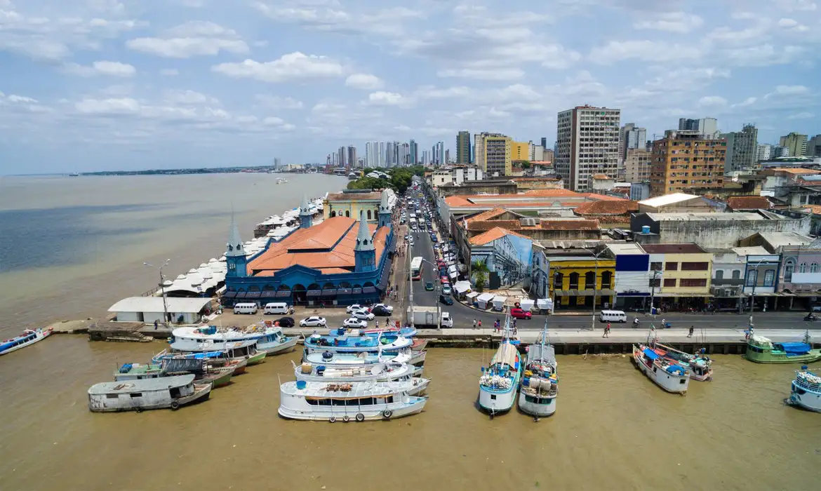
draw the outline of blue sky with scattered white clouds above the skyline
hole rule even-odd
[[[821,133],[821,0],[0,0],[0,175],[324,162],[621,108]]]

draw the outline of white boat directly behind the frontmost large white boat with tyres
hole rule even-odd
[[[406,363],[375,363],[360,368],[327,368],[308,363],[294,365],[297,380],[305,382],[410,382],[412,387],[407,391],[411,396],[423,393],[430,379],[415,377],[416,367]]]

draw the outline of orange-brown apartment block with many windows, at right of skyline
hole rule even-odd
[[[650,195],[724,186],[727,140],[705,138],[699,130],[667,130],[653,142]]]

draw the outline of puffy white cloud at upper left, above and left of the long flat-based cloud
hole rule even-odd
[[[126,46],[159,57],[216,56],[222,51],[248,53],[236,31],[207,21],[189,21],[165,32],[163,37],[129,39]]]

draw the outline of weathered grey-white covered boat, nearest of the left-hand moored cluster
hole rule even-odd
[[[211,383],[195,383],[194,375],[95,383],[89,388],[92,412],[177,410],[191,402],[207,399]]]

